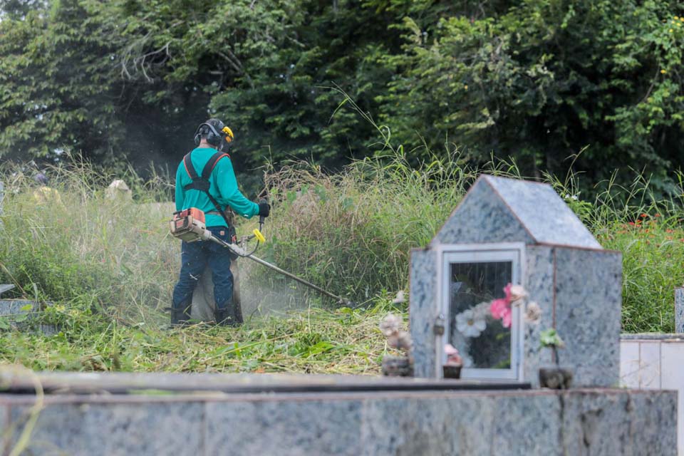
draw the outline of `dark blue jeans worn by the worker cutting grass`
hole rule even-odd
[[[230,242],[226,227],[207,227],[214,237]],[[180,247],[180,276],[173,289],[173,307],[190,304],[207,264],[212,269],[214,301],[217,309],[227,309],[233,297],[233,274],[230,271],[230,251],[212,241],[182,242]],[[186,304],[186,305],[187,305]]]

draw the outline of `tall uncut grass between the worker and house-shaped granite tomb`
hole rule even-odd
[[[430,241],[475,177],[455,161],[413,170],[398,155],[335,175],[286,166],[266,179],[275,202],[269,256],[362,302],[404,289],[410,248]]]

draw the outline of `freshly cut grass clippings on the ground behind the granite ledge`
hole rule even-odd
[[[378,329],[390,311],[292,311],[249,319],[239,328],[128,326],[101,333],[1,332],[0,361],[36,371],[284,372],[378,374],[388,347]],[[400,309],[392,309],[401,312]],[[91,318],[72,311],[72,318]]]

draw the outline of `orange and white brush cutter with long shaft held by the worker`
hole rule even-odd
[[[195,207],[174,212],[173,219],[171,221],[171,235],[173,237],[177,237],[178,239],[181,239],[185,242],[216,242],[222,247],[229,249],[235,256],[241,258],[249,258],[252,261],[256,261],[257,263],[266,266],[267,268],[272,269],[279,274],[283,274],[284,276],[289,277],[294,281],[298,281],[300,284],[306,285],[309,288],[314,289],[321,294],[324,294],[328,297],[331,297],[332,299],[335,299],[337,304],[341,304],[348,307],[355,306],[355,304],[352,301],[349,301],[348,299],[344,299],[341,296],[332,294],[331,292],[322,289],[320,286],[314,285],[309,281],[301,279],[300,277],[291,274],[290,272],[285,271],[284,269],[280,269],[275,264],[271,264],[268,261],[265,261],[259,257],[255,257],[254,252],[257,252],[259,244],[266,242],[266,238],[264,238],[264,235],[261,234],[262,229],[264,229],[264,217],[259,217],[259,228],[254,229],[252,234],[249,234],[249,236],[242,237],[240,239],[240,242],[237,241],[237,237],[234,237],[234,239],[232,239],[232,242],[225,242],[224,240],[215,237],[212,234],[212,232],[210,232],[207,229],[207,224],[204,222],[204,212]],[[245,247],[247,246],[247,242],[252,239],[257,239],[257,245],[254,247],[252,252],[248,253]]]

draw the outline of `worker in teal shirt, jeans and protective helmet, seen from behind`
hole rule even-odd
[[[204,212],[207,229],[226,242],[232,242],[234,227],[229,224],[227,208],[247,219],[254,215],[268,217],[271,207],[265,201],[249,201],[238,190],[230,157],[222,153],[233,140],[233,133],[221,120],[212,118],[195,132],[197,147],[185,155],[176,172],[176,210],[196,207]],[[173,289],[172,325],[190,320],[192,291],[208,265],[214,281],[214,317],[217,324],[240,323],[232,302],[233,275],[230,252],[211,241],[182,242],[180,277]]]

